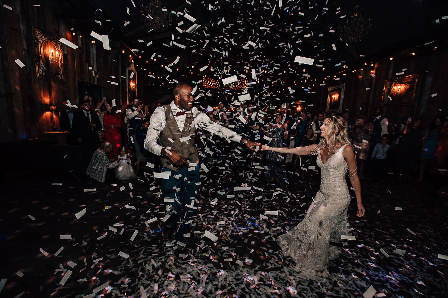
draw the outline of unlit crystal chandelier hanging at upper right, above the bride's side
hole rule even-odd
[[[372,21],[370,18],[363,18],[361,7],[356,5],[350,10],[350,19],[345,21],[344,26],[339,26],[338,33],[345,43],[353,45],[366,38],[371,28]]]

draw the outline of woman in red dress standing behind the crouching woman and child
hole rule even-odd
[[[108,110],[104,114],[103,124],[104,124],[104,140],[111,142],[112,152],[109,158],[116,159],[118,157],[118,147],[121,145],[121,116],[116,113],[117,107],[111,108],[110,105],[107,106]]]

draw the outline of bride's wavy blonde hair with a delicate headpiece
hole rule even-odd
[[[325,138],[321,138],[316,147],[316,152],[323,148],[330,150],[330,144],[333,147],[333,151],[335,145],[350,144],[345,119],[339,116],[330,116],[327,119],[328,142]]]

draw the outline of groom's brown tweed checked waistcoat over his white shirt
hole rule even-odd
[[[195,128],[191,127],[193,122],[193,114],[185,114],[185,124],[182,131],[179,130],[177,126],[176,119],[171,111],[171,106],[166,105],[165,108],[165,128],[160,132],[160,145],[164,147],[171,147],[172,151],[176,151],[182,158],[184,158],[188,163],[197,163],[199,160],[198,150],[194,145],[194,140],[192,138],[181,142],[181,138],[194,135]],[[170,141],[168,140],[173,140]],[[170,170],[178,170],[177,167],[172,166],[170,160],[165,156],[160,159],[162,166]]]

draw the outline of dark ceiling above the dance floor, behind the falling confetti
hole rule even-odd
[[[168,12],[188,13],[196,21],[171,14],[173,26],[167,32],[148,33],[141,21],[142,0],[57,2],[61,17],[83,34],[93,30],[116,41],[111,45],[117,55],[122,49],[127,54],[138,49],[139,64],[146,65],[146,72],[155,76],[151,85],[167,86],[170,79],[199,81],[203,76],[220,81],[235,74],[239,79],[247,76],[254,81],[251,71],[255,69],[259,83],[248,87],[251,94],[260,98],[269,93],[269,96],[292,97],[288,87],[297,91],[295,95],[302,94],[302,86],[310,87],[313,79],[348,71],[409,48],[420,47],[424,51],[425,43],[434,42],[428,49],[436,44],[446,46],[447,41],[448,19],[444,18],[448,16],[447,0],[283,0],[281,7],[279,0],[164,3]],[[350,18],[349,11],[356,5],[363,9],[365,19],[371,19],[372,27],[364,40],[347,46],[338,35],[338,26],[345,24]],[[176,29],[180,22],[183,22],[178,26],[181,30],[193,24],[201,26],[192,33],[180,33]],[[243,47],[249,41],[255,46]],[[296,55],[313,58],[314,64],[298,64],[294,62]],[[169,66],[172,72],[161,66],[172,64],[177,56],[179,62]]]

